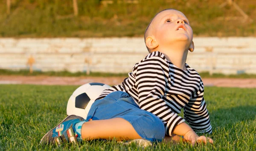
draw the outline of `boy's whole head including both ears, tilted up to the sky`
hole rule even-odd
[[[144,40],[148,52],[160,47],[183,46],[193,52],[193,31],[186,16],[175,9],[165,9],[151,20],[145,30]]]

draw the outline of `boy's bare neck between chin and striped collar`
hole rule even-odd
[[[184,50],[184,49],[169,48],[169,49],[157,49],[155,51],[162,52],[168,61],[171,61],[172,64],[174,64],[181,70],[186,70],[185,64],[186,64],[186,58],[188,55],[187,49]]]

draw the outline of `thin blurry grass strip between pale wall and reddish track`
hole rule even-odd
[[[214,73],[210,75],[208,72],[199,73],[202,78],[256,78],[256,74],[231,74],[231,75],[224,75],[221,73]],[[68,71],[49,71],[49,72],[41,72],[41,71],[34,71],[33,73],[29,73],[29,70],[4,70],[0,69],[0,76],[70,76],[70,77],[86,77],[86,76],[93,76],[93,77],[126,77],[128,73],[94,73],[91,72],[89,75],[83,72],[77,73],[70,73]]]

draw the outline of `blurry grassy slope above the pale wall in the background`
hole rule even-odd
[[[154,15],[167,8],[183,12],[194,36],[256,36],[256,1],[236,0],[254,21],[243,21],[233,7],[220,8],[224,0],[138,0],[139,3],[102,5],[103,0],[77,0],[79,15],[73,15],[72,0],[0,0],[0,37],[134,37],[143,36]],[[225,20],[241,17],[238,20]],[[234,18],[233,18],[234,19]]]

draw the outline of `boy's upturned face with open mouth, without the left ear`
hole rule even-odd
[[[177,10],[160,12],[153,20],[152,34],[159,45],[184,41],[188,48],[192,43],[193,31],[186,16]]]

